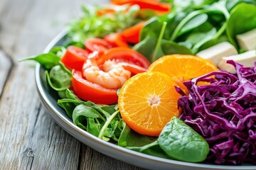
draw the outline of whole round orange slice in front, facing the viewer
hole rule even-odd
[[[178,116],[181,96],[169,76],[144,72],[130,78],[119,92],[118,107],[129,128],[142,135],[158,136],[172,117]]]

